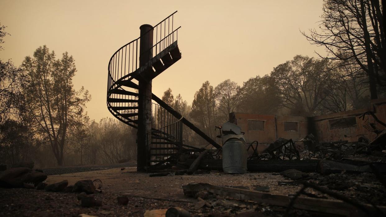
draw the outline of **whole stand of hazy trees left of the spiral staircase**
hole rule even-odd
[[[0,50],[5,26],[0,25]],[[17,67],[0,60],[0,163],[38,167],[117,163],[136,157],[134,129],[117,119],[95,122],[85,113],[91,96],[72,79],[75,61],[44,45]]]

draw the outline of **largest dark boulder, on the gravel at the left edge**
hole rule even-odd
[[[17,167],[5,170],[0,174],[0,187],[20,188],[23,183],[40,183],[46,180],[47,175],[27,167]]]

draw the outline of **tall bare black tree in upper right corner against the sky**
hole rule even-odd
[[[383,5],[384,7],[384,5]],[[377,83],[386,86],[386,38],[379,0],[324,0],[321,32],[302,32],[312,44],[324,46],[326,59],[361,69],[369,77],[371,99]]]

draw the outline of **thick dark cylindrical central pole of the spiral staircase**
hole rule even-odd
[[[153,57],[153,27],[144,24],[139,27],[139,66],[144,66]],[[138,130],[137,130],[137,171],[145,172],[150,166],[151,152],[151,80],[138,83]]]

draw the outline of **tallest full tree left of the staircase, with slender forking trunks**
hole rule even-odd
[[[31,119],[39,133],[46,135],[58,165],[63,165],[68,128],[83,115],[90,95],[83,87],[79,91],[73,89],[76,67],[67,52],[55,60],[54,52],[44,45],[36,49],[33,58],[25,57],[22,68],[27,78],[24,95]]]

